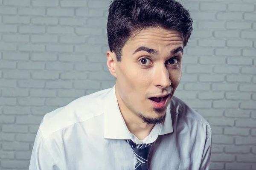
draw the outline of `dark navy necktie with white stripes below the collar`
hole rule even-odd
[[[131,145],[131,148],[136,157],[136,164],[134,170],[148,170],[148,155],[150,153],[151,144],[136,144],[132,140],[125,140],[128,144]]]

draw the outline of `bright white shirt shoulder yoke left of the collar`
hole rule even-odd
[[[44,115],[39,129],[47,138],[52,133],[104,113],[104,98],[111,88],[82,96]]]

